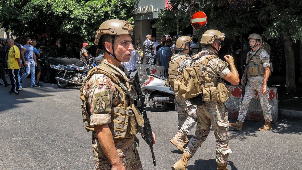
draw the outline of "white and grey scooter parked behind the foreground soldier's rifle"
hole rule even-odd
[[[146,76],[146,80],[142,85],[142,91],[146,96],[145,103],[149,103],[152,111],[162,112],[169,103],[174,103],[174,91],[166,86],[167,76],[151,74],[148,67],[146,73],[142,74]]]

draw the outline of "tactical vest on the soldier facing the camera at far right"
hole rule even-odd
[[[265,58],[264,58],[261,61],[259,55],[262,51],[265,51],[265,50],[260,48],[254,55],[252,55],[252,53],[251,53],[252,50],[249,51],[249,53],[247,54],[246,61],[249,61],[250,57],[252,57],[251,60],[249,61],[249,63],[247,63],[248,64],[247,65],[248,70],[246,72],[247,76],[258,76],[258,75],[264,75],[265,74],[265,69],[264,69],[262,64],[263,63],[268,63],[269,62],[268,60],[270,60],[270,56],[268,55],[267,60],[265,60]],[[273,68],[272,63],[270,62],[270,64],[271,64],[270,69],[272,71],[272,68]]]

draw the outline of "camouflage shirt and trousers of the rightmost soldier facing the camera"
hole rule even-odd
[[[256,52],[256,51],[255,51]],[[255,52],[251,53],[252,55],[255,54]],[[249,53],[248,53],[249,55]],[[249,56],[246,56],[246,61],[249,60]],[[263,62],[263,67],[270,67],[270,61],[269,61],[269,56],[266,51],[262,51],[259,54],[260,60],[265,61]],[[251,60],[252,61],[252,60]],[[250,61],[250,62],[251,62]],[[252,99],[253,96],[255,96],[255,93],[258,92],[258,96],[260,99],[260,105],[263,110],[263,116],[265,119],[265,122],[270,122],[272,121],[271,118],[271,105],[268,103],[268,91],[269,88],[266,86],[266,94],[262,95],[261,93],[261,86],[263,82],[264,76],[263,75],[258,75],[258,76],[248,76],[248,82],[246,84],[246,90],[244,94],[244,98],[242,100],[240,110],[239,110],[239,115],[238,115],[238,120],[241,122],[244,122],[244,118],[246,116],[247,110],[249,109],[249,103]]]

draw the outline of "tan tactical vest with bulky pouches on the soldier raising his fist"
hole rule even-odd
[[[198,57],[200,58],[200,57]],[[191,67],[184,69],[181,77],[180,93],[187,100],[202,95],[205,103],[224,103],[230,97],[230,90],[221,77],[210,78],[207,67],[210,60],[218,58],[216,55],[207,55],[200,63],[192,60]]]

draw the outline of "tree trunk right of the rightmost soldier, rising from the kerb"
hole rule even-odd
[[[285,53],[286,92],[296,93],[295,57],[291,39],[285,32],[280,32],[280,38],[284,46]]]

